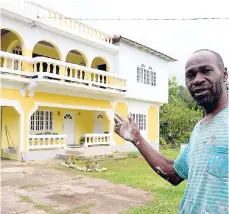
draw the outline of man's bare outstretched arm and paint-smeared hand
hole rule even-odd
[[[118,114],[115,114],[114,131],[124,140],[132,142],[139,150],[139,152],[146,159],[151,168],[162,178],[170,182],[172,185],[178,185],[184,179],[181,178],[173,167],[174,161],[166,158],[156,150],[154,150],[149,143],[141,136],[140,131],[131,118],[125,120]]]

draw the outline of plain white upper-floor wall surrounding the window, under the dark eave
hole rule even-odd
[[[168,101],[168,63],[157,57],[121,42],[119,53],[119,74],[127,78],[128,96],[152,102]],[[137,67],[144,64],[156,72],[156,86],[137,82]]]

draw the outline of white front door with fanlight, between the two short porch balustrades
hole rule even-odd
[[[67,145],[76,143],[75,117],[72,112],[64,113],[64,134],[66,134]]]

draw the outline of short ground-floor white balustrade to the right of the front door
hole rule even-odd
[[[110,134],[84,134],[84,146],[109,145],[111,140]]]

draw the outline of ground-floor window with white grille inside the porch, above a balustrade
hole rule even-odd
[[[36,111],[30,119],[31,131],[52,131],[53,130],[53,112]]]

